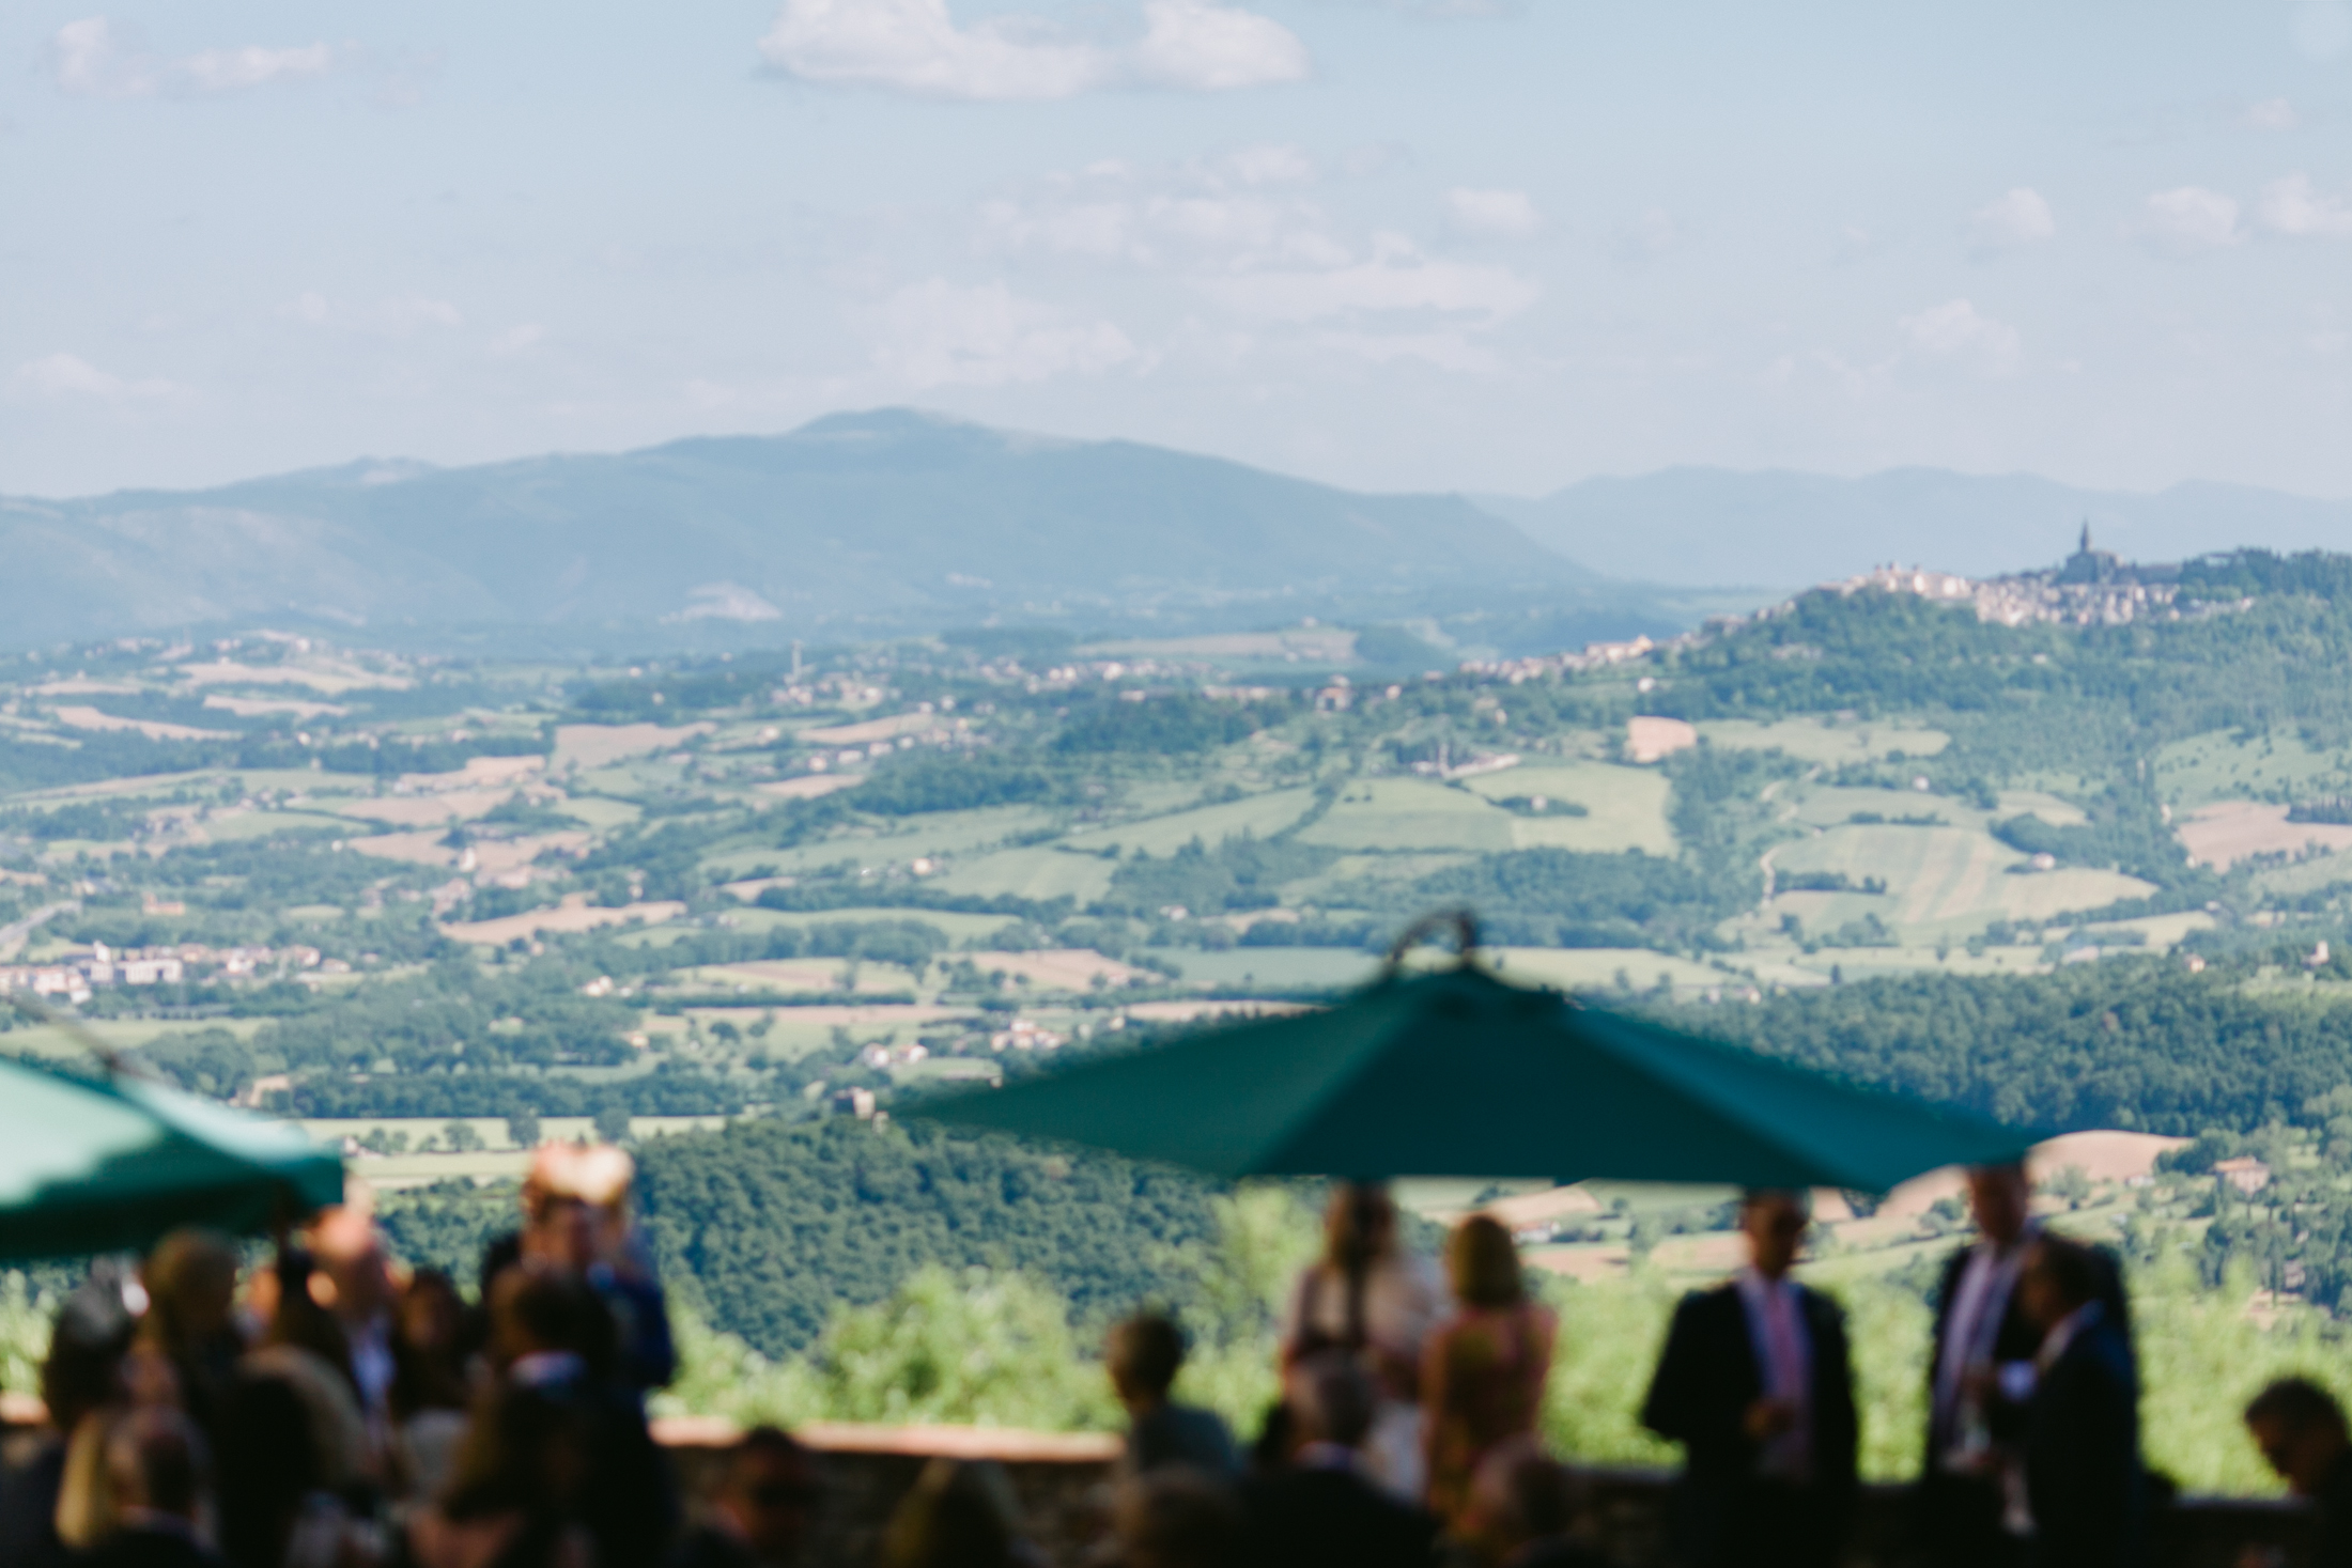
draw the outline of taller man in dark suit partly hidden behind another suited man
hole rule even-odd
[[[2013,1516],[2027,1403],[2042,1326],[2018,1298],[2018,1274],[2039,1234],[2023,1164],[1969,1171],[1976,1241],[1952,1253],[1936,1288],[1929,1356],[1926,1465],[1919,1474],[1917,1544],[1933,1568],[2004,1568],[2025,1556]],[[2131,1342],[2122,1272],[2100,1255],[2100,1302]]]

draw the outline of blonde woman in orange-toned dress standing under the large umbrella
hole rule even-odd
[[[1456,1312],[1421,1363],[1430,1512],[1458,1526],[1470,1481],[1496,1446],[1536,1429],[1559,1321],[1526,1295],[1519,1248],[1501,1220],[1475,1213],[1446,1239]]]

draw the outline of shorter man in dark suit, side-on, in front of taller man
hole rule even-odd
[[[2032,1568],[2129,1568],[2145,1554],[2140,1375],[2103,1293],[2110,1267],[2079,1241],[2039,1237],[2018,1276],[2042,1326],[2025,1420]]]

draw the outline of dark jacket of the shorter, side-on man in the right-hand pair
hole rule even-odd
[[[2140,1472],[2140,1378],[2105,1309],[2074,1331],[2027,1408],[2030,1561],[2042,1568],[2138,1563],[2147,1523]]]

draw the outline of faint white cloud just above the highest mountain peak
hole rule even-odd
[[[1098,376],[1141,357],[1115,324],[1018,299],[1000,282],[917,282],[891,294],[873,324],[875,364],[910,388]]]

